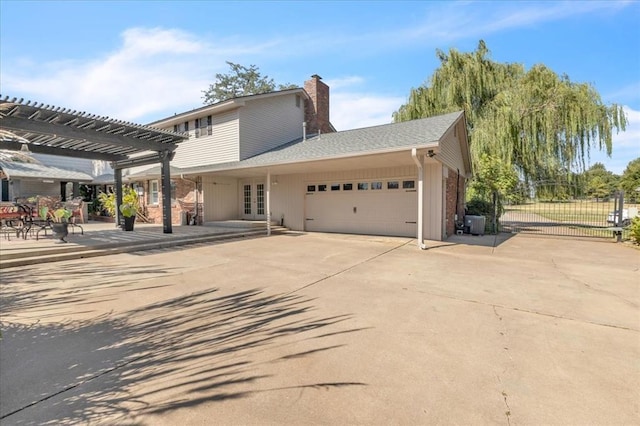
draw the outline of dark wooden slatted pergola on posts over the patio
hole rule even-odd
[[[122,169],[160,163],[162,223],[164,233],[172,232],[170,162],[187,135],[2,95],[0,131],[0,149],[20,151],[26,145],[34,153],[110,161],[118,207]]]

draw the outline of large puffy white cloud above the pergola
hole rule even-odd
[[[201,106],[202,90],[226,68],[233,46],[216,48],[192,34],[132,28],[122,45],[89,61],[38,64],[22,61],[3,70],[3,91],[33,101],[130,121],[156,118]],[[236,54],[263,45],[236,45]]]

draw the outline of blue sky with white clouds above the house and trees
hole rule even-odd
[[[226,61],[278,84],[318,74],[331,122],[392,121],[438,68],[436,50],[589,83],[629,124],[607,157],[640,157],[640,1],[23,1],[0,0],[0,94],[135,123],[203,105]]]

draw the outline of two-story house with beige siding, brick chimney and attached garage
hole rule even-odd
[[[300,231],[440,240],[462,220],[470,175],[462,112],[336,132],[329,87],[229,99],[150,124],[188,132],[172,161],[172,198],[198,222],[270,220]],[[135,171],[159,216],[159,171]],[[197,190],[196,190],[197,188]],[[178,219],[179,220],[179,219]]]

